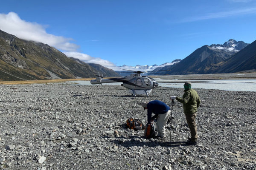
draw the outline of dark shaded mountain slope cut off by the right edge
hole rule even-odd
[[[214,73],[256,71],[256,40],[212,69]]]

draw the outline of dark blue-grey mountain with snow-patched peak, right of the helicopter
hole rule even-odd
[[[223,62],[247,45],[247,43],[242,41],[236,42],[233,39],[228,40],[223,45],[204,45],[176,65],[166,66],[161,70],[171,69],[171,71],[162,72],[163,74],[171,75],[211,74],[213,71],[212,65]]]

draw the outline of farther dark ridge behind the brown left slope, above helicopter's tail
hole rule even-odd
[[[116,73],[112,69],[103,67],[102,65],[94,64],[94,63],[86,63],[86,62],[81,61],[80,59],[73,58],[73,57],[70,57],[70,58],[73,59],[74,61],[78,62],[79,64],[82,64],[82,65],[88,64],[88,65],[92,66],[100,73],[100,75],[103,74],[103,77],[118,77],[118,76],[120,76],[120,74]],[[96,73],[96,74],[98,75],[99,73]]]

